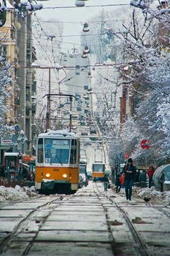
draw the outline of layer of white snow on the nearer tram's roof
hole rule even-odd
[[[40,133],[38,137],[58,137],[58,138],[73,138],[76,139],[78,136],[73,133],[73,132],[68,132],[67,130],[58,130],[58,131],[53,131],[49,130],[48,132],[45,133]]]

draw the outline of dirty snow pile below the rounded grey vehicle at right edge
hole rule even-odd
[[[159,192],[155,187],[151,187],[151,189],[146,187],[140,188],[137,195],[138,197],[151,197],[153,201],[161,200],[170,204],[170,191]]]

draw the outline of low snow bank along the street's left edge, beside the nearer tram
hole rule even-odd
[[[14,201],[14,200],[27,200],[30,197],[37,196],[35,187],[4,187],[0,186],[0,202]]]

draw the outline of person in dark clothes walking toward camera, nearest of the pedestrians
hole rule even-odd
[[[133,159],[129,158],[127,165],[123,168],[123,173],[125,174],[125,193],[126,199],[131,200],[133,191],[133,182],[136,175],[136,168],[133,166]]]

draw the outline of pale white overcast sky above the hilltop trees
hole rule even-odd
[[[101,5],[101,4],[129,4],[130,0],[89,0],[86,1],[86,6]],[[47,7],[75,7],[75,0],[49,0],[42,1],[44,9],[37,12],[37,17],[43,19],[55,18],[63,22],[63,47],[71,48],[71,44],[66,42],[80,43],[79,36],[68,37],[68,35],[80,35],[84,22],[88,21],[91,17],[99,14],[102,9],[104,11],[113,11],[120,7],[76,7],[73,9],[45,9]],[[125,7],[124,7],[125,8]],[[128,8],[128,7],[127,7]],[[75,22],[75,23],[67,23]],[[65,37],[66,36],[66,37]]]

